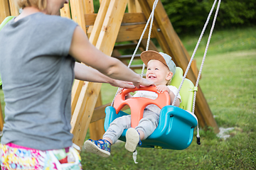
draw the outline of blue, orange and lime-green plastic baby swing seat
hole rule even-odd
[[[176,67],[176,74],[171,80],[171,85],[178,88],[179,84],[181,84],[182,78],[182,69],[180,67]],[[135,128],[139,123],[139,120],[143,116],[144,108],[147,105],[153,103],[161,108],[159,125],[146,140],[142,140],[142,145],[139,147],[156,147],[163,149],[182,150],[186,149],[189,145],[191,145],[191,142],[193,140],[193,130],[198,124],[198,120],[196,118],[196,115],[193,115],[193,113],[191,113],[194,85],[189,79],[185,79],[183,82],[183,86],[181,87],[180,95],[182,102],[179,108],[169,105],[170,98],[167,92],[163,94],[158,94],[158,98],[156,98],[155,100],[149,98],[128,98],[127,100],[124,100],[124,94],[131,91],[149,90],[156,92],[156,88],[154,86],[141,87],[140,89],[129,89],[128,91],[126,90],[127,89],[124,89],[124,91],[122,91],[122,94],[117,94],[116,98],[114,99],[114,107],[108,106],[105,109],[105,130],[110,127],[110,123],[114,119],[119,118],[122,115],[128,115],[127,113],[120,111],[122,107],[126,104],[129,105],[129,107],[131,108],[132,127]],[[135,101],[131,102],[134,99]],[[163,100],[167,101],[163,102]],[[154,103],[155,101],[156,103]],[[138,103],[142,103],[142,106],[138,106]],[[127,130],[124,130],[121,137],[119,137],[119,140],[125,142],[126,132]]]

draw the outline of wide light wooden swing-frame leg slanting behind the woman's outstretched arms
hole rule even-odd
[[[102,3],[103,2],[104,1],[102,1]],[[100,29],[100,35],[97,38],[98,40],[95,46],[106,55],[111,55],[112,53],[114,43],[117,38],[117,30],[119,30],[121,26],[121,21],[126,6],[127,1],[110,1],[102,27],[93,28],[93,30]],[[92,32],[94,32],[93,30]],[[90,35],[90,40],[93,36],[94,35]],[[100,86],[101,84],[88,83],[85,95],[82,93],[82,88],[81,94],[78,98],[78,103],[80,103],[80,105],[77,105],[75,108],[75,112],[71,121],[71,125],[73,127],[71,132],[73,132],[74,135],[73,142],[79,147],[82,147],[85,140],[87,128],[92,118],[92,112],[94,111],[95,103],[100,93]]]

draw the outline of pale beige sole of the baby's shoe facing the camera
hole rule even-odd
[[[127,149],[129,152],[134,152],[139,143],[139,133],[134,128],[129,128],[127,130],[125,137],[125,149]]]

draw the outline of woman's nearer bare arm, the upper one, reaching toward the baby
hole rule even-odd
[[[132,69],[129,69],[126,65],[114,57],[107,56],[100,50],[97,50],[97,48],[89,42],[87,35],[85,35],[80,26],[75,28],[73,40],[70,46],[70,55],[75,57],[75,59],[79,60],[80,62],[97,69],[107,77],[131,81],[134,86],[137,86],[138,88],[139,85],[149,86],[154,84],[153,82],[140,77],[139,74],[133,72]],[[75,72],[75,74],[78,74],[78,72]],[[87,73],[80,72],[79,74]],[[86,77],[87,76],[88,75],[86,75]],[[77,76],[75,75],[75,77]],[[87,78],[86,80],[88,81]]]

